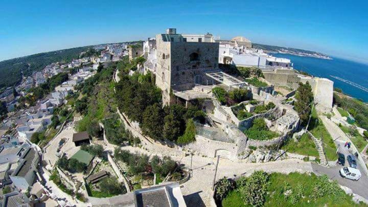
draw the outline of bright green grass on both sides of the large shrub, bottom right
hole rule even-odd
[[[356,204],[352,200],[352,196],[344,193],[336,182],[329,183],[325,177],[317,177],[313,173],[311,175],[301,173],[271,173],[266,191],[264,206],[362,205]],[[325,191],[326,193],[321,193]],[[221,204],[223,207],[249,206],[244,204],[241,193],[237,189],[231,191],[221,201]]]

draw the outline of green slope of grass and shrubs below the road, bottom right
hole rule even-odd
[[[326,175],[318,177],[313,173],[268,174],[258,171],[249,177],[240,177],[233,185],[228,185],[229,182],[234,181],[220,182],[222,185],[216,187],[222,193],[222,199],[218,199],[218,202],[223,207],[358,205],[352,196],[347,195],[336,181],[331,182]]]

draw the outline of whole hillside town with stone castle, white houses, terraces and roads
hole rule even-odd
[[[367,132],[330,79],[175,28],[79,57],[0,95],[0,205],[262,206],[266,177],[288,205],[368,204]]]

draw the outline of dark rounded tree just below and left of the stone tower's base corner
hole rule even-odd
[[[158,103],[148,106],[143,112],[142,123],[140,124],[144,135],[148,135],[154,140],[163,139],[164,110]]]

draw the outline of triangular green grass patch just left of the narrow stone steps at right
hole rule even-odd
[[[285,145],[281,147],[287,152],[301,154],[305,156],[314,156],[319,158],[318,151],[315,147],[313,140],[307,133],[303,134],[299,142],[295,142],[293,139],[289,139]]]

